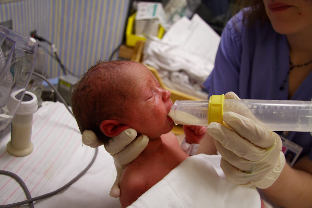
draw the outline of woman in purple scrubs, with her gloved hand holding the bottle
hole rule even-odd
[[[312,1],[241,3],[250,7],[236,14],[223,30],[215,68],[205,82],[209,94],[233,91],[226,97],[310,100]],[[202,140],[197,153],[215,153],[217,147],[222,155],[221,167],[229,180],[260,188],[280,206],[312,206],[310,133],[279,132],[278,135],[231,112],[225,113],[223,120],[232,129],[218,123],[209,124],[207,139]],[[129,138],[128,143],[133,139]],[[291,149],[297,156],[290,165],[285,163],[281,152],[282,140],[283,150],[296,147]],[[119,157],[128,151],[121,150]],[[122,163],[116,155],[114,159]]]

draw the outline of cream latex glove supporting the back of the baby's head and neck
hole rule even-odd
[[[94,148],[103,145],[103,143],[98,141],[95,133],[90,130],[83,132],[82,141],[85,145]],[[148,143],[149,138],[147,136],[140,135],[137,137],[137,132],[133,128],[128,128],[118,136],[113,137],[112,140],[110,140],[109,145],[104,145],[106,151],[114,158],[117,171],[116,180],[110,190],[110,196],[120,196],[119,181],[124,167],[137,158]]]

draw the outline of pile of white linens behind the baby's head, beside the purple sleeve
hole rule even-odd
[[[182,17],[161,40],[147,39],[143,63],[158,69],[162,79],[166,76],[163,71],[182,70],[202,84],[213,69],[219,42],[220,36],[199,15],[191,20]],[[177,83],[181,82],[184,85],[188,80]]]

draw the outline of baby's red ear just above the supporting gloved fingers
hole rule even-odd
[[[130,128],[128,125],[115,119],[104,120],[100,124],[101,131],[108,137],[115,137],[128,128]]]

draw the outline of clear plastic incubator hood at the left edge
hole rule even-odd
[[[32,75],[38,41],[0,25],[0,132],[11,123]],[[24,90],[23,90],[24,89]],[[21,90],[18,102],[9,104],[10,95]]]

